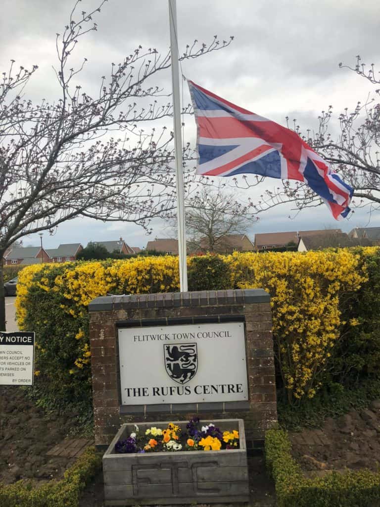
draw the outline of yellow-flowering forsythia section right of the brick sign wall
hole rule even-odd
[[[296,398],[313,397],[339,337],[340,297],[366,280],[360,256],[348,249],[245,253],[229,262],[234,286],[271,294],[279,373]]]

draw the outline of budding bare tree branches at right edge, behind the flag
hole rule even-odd
[[[332,106],[322,111],[319,116],[317,132],[307,130],[302,135],[297,121],[289,128],[297,132],[316,152],[328,161],[341,178],[354,188],[352,208],[370,206],[371,210],[380,208],[380,79],[376,77],[374,64],[365,70],[360,56],[354,66],[339,64],[341,68],[349,68],[361,78],[374,85],[373,94],[364,103],[358,102],[354,111],[346,107],[338,117],[338,135],[330,132]],[[245,184],[239,187],[249,188],[262,183],[263,178],[255,180],[244,178]],[[276,187],[260,196],[253,204],[254,209],[264,211],[285,202],[292,202],[296,209],[319,206],[322,200],[305,184],[289,180],[283,186]]]

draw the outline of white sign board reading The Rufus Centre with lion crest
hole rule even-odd
[[[243,322],[119,329],[123,405],[248,400]]]

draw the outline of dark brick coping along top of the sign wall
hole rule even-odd
[[[226,304],[269,303],[270,295],[262,288],[229,289],[227,291],[169,292],[101,296],[93,299],[88,310],[102,312],[132,308],[183,307]]]

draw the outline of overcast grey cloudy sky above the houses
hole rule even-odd
[[[0,71],[11,58],[19,65],[39,65],[25,95],[34,101],[54,99],[58,90],[52,65],[56,63],[55,34],[67,23],[72,0],[2,0],[0,27]],[[97,6],[83,1],[80,10]],[[210,42],[214,34],[221,40],[234,35],[233,44],[222,51],[182,64],[183,74],[214,93],[259,115],[285,125],[285,117],[296,118],[301,129],[316,129],[318,115],[334,106],[332,122],[348,107],[364,101],[371,85],[338,63],[355,63],[360,54],[368,64],[380,65],[378,0],[187,0],[177,1],[179,47],[194,39]],[[96,17],[97,32],[90,33],[77,49],[88,58],[81,75],[83,88],[98,89],[100,77],[113,61],[119,63],[138,45],[169,48],[167,0],[109,0]],[[158,84],[170,92],[170,73]],[[157,80],[156,80],[157,81]],[[187,89],[184,103],[189,101]],[[196,127],[186,120],[185,140],[193,142]],[[253,200],[278,180],[252,189]],[[358,226],[380,226],[379,216],[368,208],[357,210],[350,220],[335,222],[326,206],[296,214],[282,205],[260,215],[249,231],[296,231],[340,227],[348,232]],[[292,217],[289,219],[289,215]],[[77,219],[59,227],[55,236],[44,234],[44,246],[59,243],[115,240],[122,236],[131,246],[143,247],[148,238],[135,225],[106,224]],[[160,222],[153,236],[167,237]],[[24,245],[39,244],[39,237],[24,239]]]

